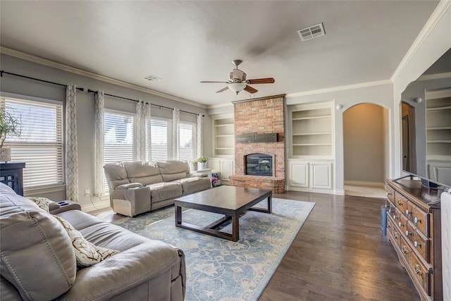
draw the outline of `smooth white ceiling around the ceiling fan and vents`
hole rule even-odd
[[[387,80],[438,1],[4,1],[1,46],[214,106],[242,59],[254,97]],[[296,30],[323,23],[301,42]],[[160,82],[142,78],[155,75]]]

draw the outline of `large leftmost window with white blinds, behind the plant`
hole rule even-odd
[[[0,105],[21,120],[20,137],[7,137],[11,160],[25,162],[24,188],[63,184],[63,104],[1,97]]]

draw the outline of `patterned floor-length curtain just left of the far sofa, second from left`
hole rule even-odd
[[[94,196],[104,195],[104,92],[95,94],[95,137],[96,137],[96,161],[95,161],[95,183]]]

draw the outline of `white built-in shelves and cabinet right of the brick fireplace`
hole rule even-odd
[[[287,189],[333,193],[333,104],[288,106]]]

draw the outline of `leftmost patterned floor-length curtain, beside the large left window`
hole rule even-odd
[[[66,87],[66,199],[78,202],[77,89]]]

